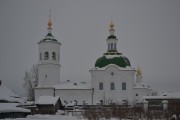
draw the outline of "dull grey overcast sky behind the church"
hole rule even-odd
[[[1,0],[0,80],[22,95],[25,70],[38,63],[47,34],[62,43],[61,81],[91,80],[89,70],[107,51],[109,23],[118,51],[142,69],[153,89],[180,91],[180,0]]]

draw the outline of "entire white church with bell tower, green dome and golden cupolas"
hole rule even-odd
[[[98,58],[89,70],[90,81],[60,81],[61,43],[52,35],[49,18],[48,33],[38,42],[38,86],[35,101],[40,96],[59,96],[64,104],[73,105],[135,105],[143,101],[143,96],[151,95],[151,88],[143,81],[140,68],[132,68],[129,59],[117,50],[114,24],[109,25],[106,39],[107,52]],[[87,71],[88,72],[88,71]]]

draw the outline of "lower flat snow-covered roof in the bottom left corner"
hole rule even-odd
[[[24,109],[21,107],[16,107],[17,104],[15,103],[0,103],[0,113],[6,112],[31,112],[29,109]]]

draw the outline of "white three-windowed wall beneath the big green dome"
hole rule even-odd
[[[133,103],[133,81],[135,70],[120,70],[115,65],[108,66],[105,70],[90,70],[92,87],[94,88],[93,102],[103,100],[104,104],[110,102],[122,104],[123,100],[128,104]],[[114,75],[111,75],[111,73]],[[103,90],[99,90],[99,83],[103,83]],[[115,90],[110,90],[110,84],[114,82]],[[122,83],[126,83],[126,90],[122,90]]]

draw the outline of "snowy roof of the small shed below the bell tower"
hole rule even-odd
[[[60,97],[40,96],[36,102],[39,105],[55,105]]]

